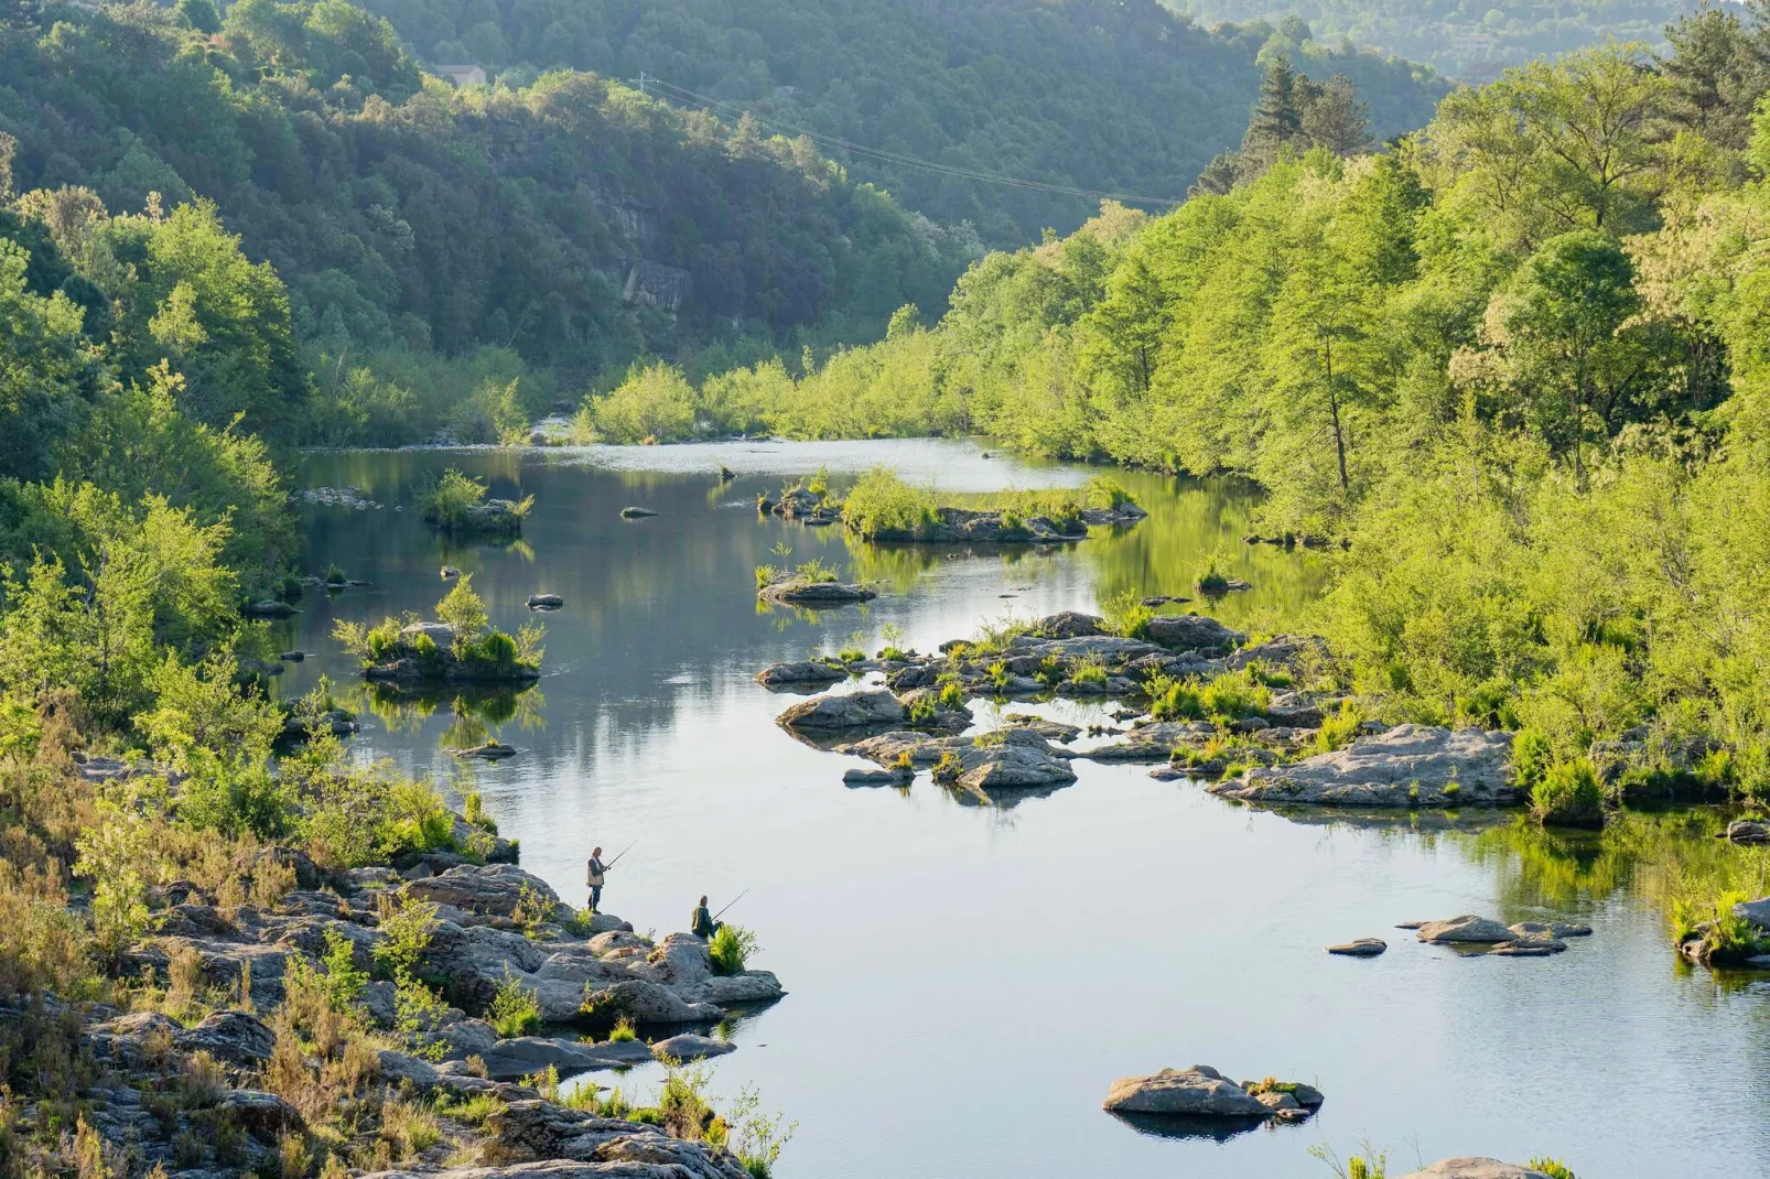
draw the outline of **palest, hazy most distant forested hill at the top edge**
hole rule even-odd
[[[1460,76],[1605,37],[1658,44],[1694,0],[1166,0],[1202,23],[1271,21],[1290,41],[1375,46]]]

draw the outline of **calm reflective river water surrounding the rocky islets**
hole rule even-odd
[[[354,752],[481,790],[522,864],[573,905],[591,844],[637,841],[604,908],[643,931],[685,928],[701,892],[717,908],[747,889],[731,917],[758,931],[752,965],[789,993],[735,1025],[740,1048],[712,1067],[713,1089],[754,1085],[798,1122],[782,1179],[1324,1179],[1312,1145],[1345,1156],[1366,1138],[1389,1149],[1389,1174],[1448,1154],[1551,1154],[1582,1179],[1770,1175],[1770,981],[1678,968],[1628,873],[1589,852],[1481,834],[1492,820],[1469,814],[1299,821],[1089,761],[1074,786],[1007,809],[958,802],[926,775],[901,793],[844,788],[857,763],[775,728],[795,697],[752,683],[759,667],[857,630],[876,650],[887,623],[931,650],[1009,611],[1186,593],[1218,543],[1255,584],[1216,611],[1243,628],[1276,628],[1326,575],[1312,554],[1239,543],[1246,492],[1156,476],[1117,476],[1152,519],[1048,556],[881,554],[756,515],[756,494],[786,476],[880,462],[950,490],[1089,474],[922,441],[312,455],[303,485],[354,485],[381,505],[304,508],[313,568],[336,563],[373,588],[308,597],[285,627],[310,659],[285,690],[319,674],[352,685],[333,620],[428,611],[444,561],[512,630],[529,593],[565,595],[545,616],[538,692],[490,719],[446,703],[365,712]],[[738,478],[720,485],[719,464]],[[395,510],[448,466],[494,494],[533,494],[524,540],[444,543]],[[623,520],[625,505],[658,515]],[[759,611],[752,568],[777,543],[883,593],[821,620]],[[458,765],[450,745],[483,726],[520,756]],[[1558,958],[1466,959],[1391,928],[1464,912],[1597,933]],[[1322,954],[1366,935],[1389,952]],[[1113,1078],[1188,1064],[1306,1080],[1328,1105],[1223,1142],[1101,1112]]]

